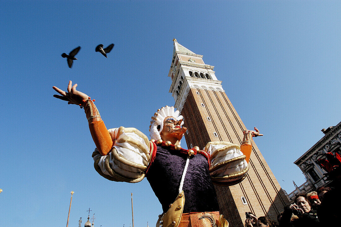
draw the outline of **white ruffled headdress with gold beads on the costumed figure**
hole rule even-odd
[[[162,107],[161,109],[158,109],[158,112],[154,113],[154,116],[151,117],[149,131],[150,131],[150,139],[154,140],[161,140],[160,132],[163,129],[163,120],[167,116],[172,116],[176,120],[183,119],[182,115],[179,115],[179,111],[174,111],[174,107],[168,107],[166,105],[165,107]],[[161,126],[160,130],[158,130],[158,126]],[[180,126],[183,125],[183,121],[181,122]]]

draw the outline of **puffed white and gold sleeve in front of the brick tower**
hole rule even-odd
[[[208,142],[205,151],[210,156],[210,176],[213,184],[231,186],[240,183],[249,170],[240,146],[223,141]]]

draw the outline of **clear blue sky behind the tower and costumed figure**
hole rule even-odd
[[[0,1],[2,226],[152,227],[161,205],[147,180],[111,182],[93,168],[84,111],[53,98],[78,83],[108,128],[149,136],[174,105],[167,77],[177,41],[216,76],[280,185],[305,180],[293,164],[340,122],[340,1]],[[115,43],[108,59],[94,51]],[[72,69],[60,55],[81,46]],[[185,143],[183,143],[185,144]],[[282,181],[283,180],[283,181]]]

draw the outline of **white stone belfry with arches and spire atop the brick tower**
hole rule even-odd
[[[174,97],[174,107],[181,112],[190,88],[224,91],[213,71],[206,65],[203,55],[195,54],[174,41],[173,60],[168,76],[172,79],[169,92]]]

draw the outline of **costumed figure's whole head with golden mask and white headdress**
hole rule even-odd
[[[174,111],[174,107],[162,107],[151,117],[149,126],[150,139],[163,141],[180,141],[187,128],[183,125],[183,117],[179,111]]]

